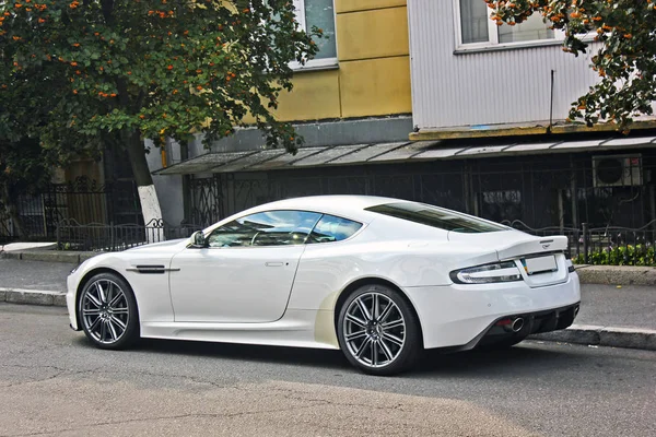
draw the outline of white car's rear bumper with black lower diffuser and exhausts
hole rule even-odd
[[[407,287],[405,292],[418,312],[425,349],[475,347],[485,335],[497,334],[491,328],[504,318],[525,317],[525,328],[517,335],[563,329],[565,312],[575,317],[581,303],[576,273],[563,283],[535,288],[518,281]]]

